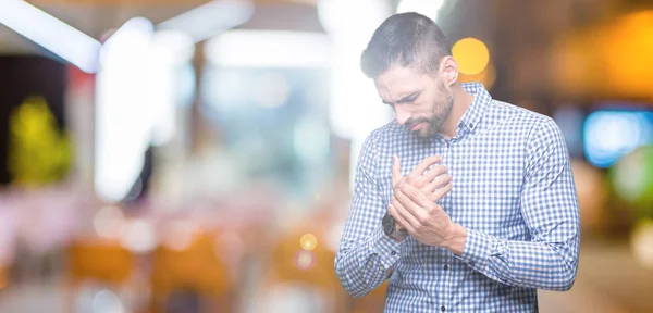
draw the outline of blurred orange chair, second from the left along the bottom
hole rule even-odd
[[[190,296],[208,299],[208,310],[202,312],[234,311],[235,292],[230,272],[217,255],[219,247],[214,237],[210,233],[195,234],[193,241],[184,249],[159,246],[155,250],[151,312],[173,310],[169,304],[171,297],[176,297],[175,295],[185,295],[186,300]]]

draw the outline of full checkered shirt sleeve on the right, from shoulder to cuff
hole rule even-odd
[[[567,147],[553,120],[531,133],[526,164],[521,213],[531,240],[468,228],[460,259],[506,285],[565,291],[578,268],[580,212]]]

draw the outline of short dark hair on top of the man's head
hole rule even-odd
[[[435,22],[415,12],[399,13],[374,30],[360,57],[360,68],[369,78],[395,64],[434,73],[446,55],[452,55],[452,49]]]

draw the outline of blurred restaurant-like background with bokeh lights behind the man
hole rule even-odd
[[[333,259],[406,11],[564,132],[581,260],[541,311],[653,312],[648,0],[0,0],[0,311],[382,312]]]

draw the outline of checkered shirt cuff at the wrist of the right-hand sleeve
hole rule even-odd
[[[483,272],[488,260],[495,251],[497,241],[484,234],[466,228],[465,248],[463,254],[456,258],[466,262],[472,270]]]

